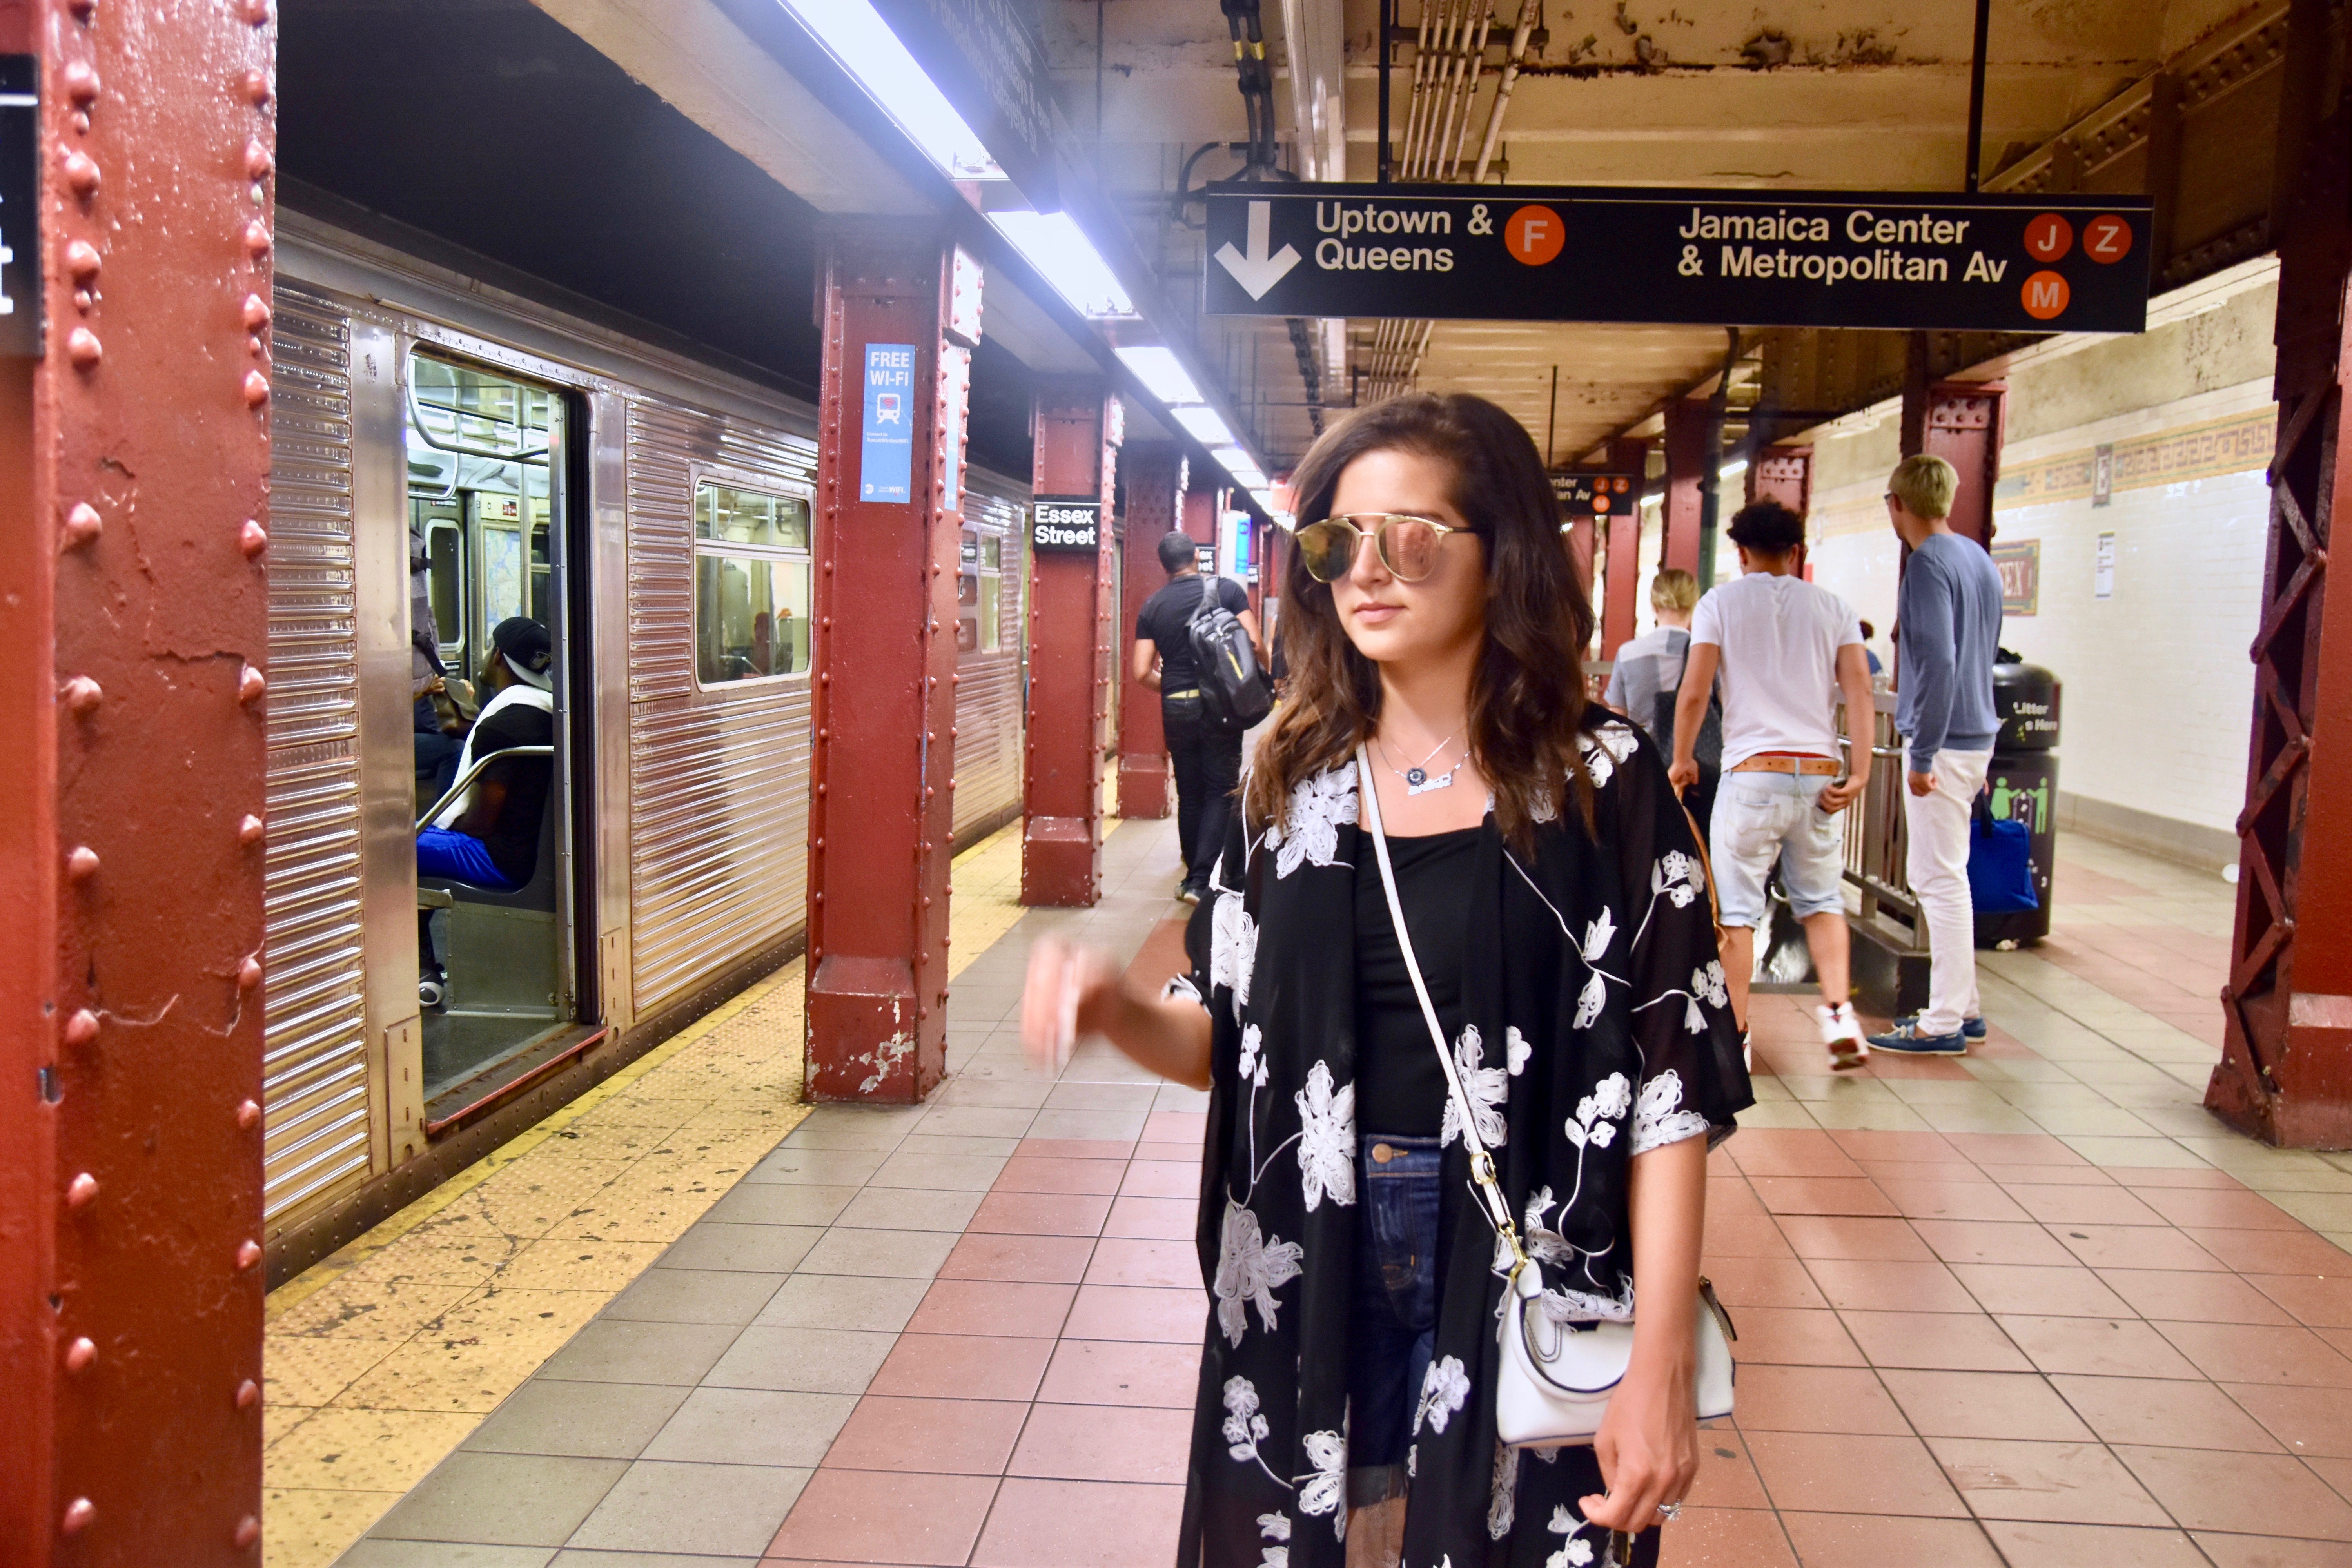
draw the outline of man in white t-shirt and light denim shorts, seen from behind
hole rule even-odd
[[[1771,912],[1764,882],[1773,860],[1780,886],[1804,922],[1820,976],[1820,1039],[1830,1067],[1844,1072],[1870,1056],[1853,1018],[1844,830],[1837,813],[1870,780],[1870,665],[1853,607],[1797,576],[1804,517],[1778,501],[1743,505],[1731,517],[1740,576],[1708,592],[1691,618],[1691,656],[1675,708],[1677,790],[1698,780],[1691,743],[1708,689],[1722,672],[1724,776],[1715,795],[1708,851],[1724,922],[1724,971],[1731,1011],[1748,1027],[1755,933]],[[1856,715],[1860,745],[1846,773],[1837,750],[1837,696]]]

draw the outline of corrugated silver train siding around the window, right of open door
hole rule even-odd
[[[628,428],[630,990],[644,1018],[807,922],[809,682],[694,686],[694,463],[816,484],[816,447],[633,400]]]

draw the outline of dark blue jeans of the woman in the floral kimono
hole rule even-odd
[[[1414,1406],[1437,1347],[1442,1164],[1435,1138],[1364,1133],[1357,1143],[1362,1201],[1355,1211],[1355,1305],[1348,1312],[1352,1507],[1404,1490]]]

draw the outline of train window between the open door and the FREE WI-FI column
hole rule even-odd
[[[694,668],[706,686],[809,670],[809,503],[694,491]]]

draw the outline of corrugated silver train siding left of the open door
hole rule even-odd
[[[263,1208],[367,1171],[350,322],[278,284],[270,334]]]

